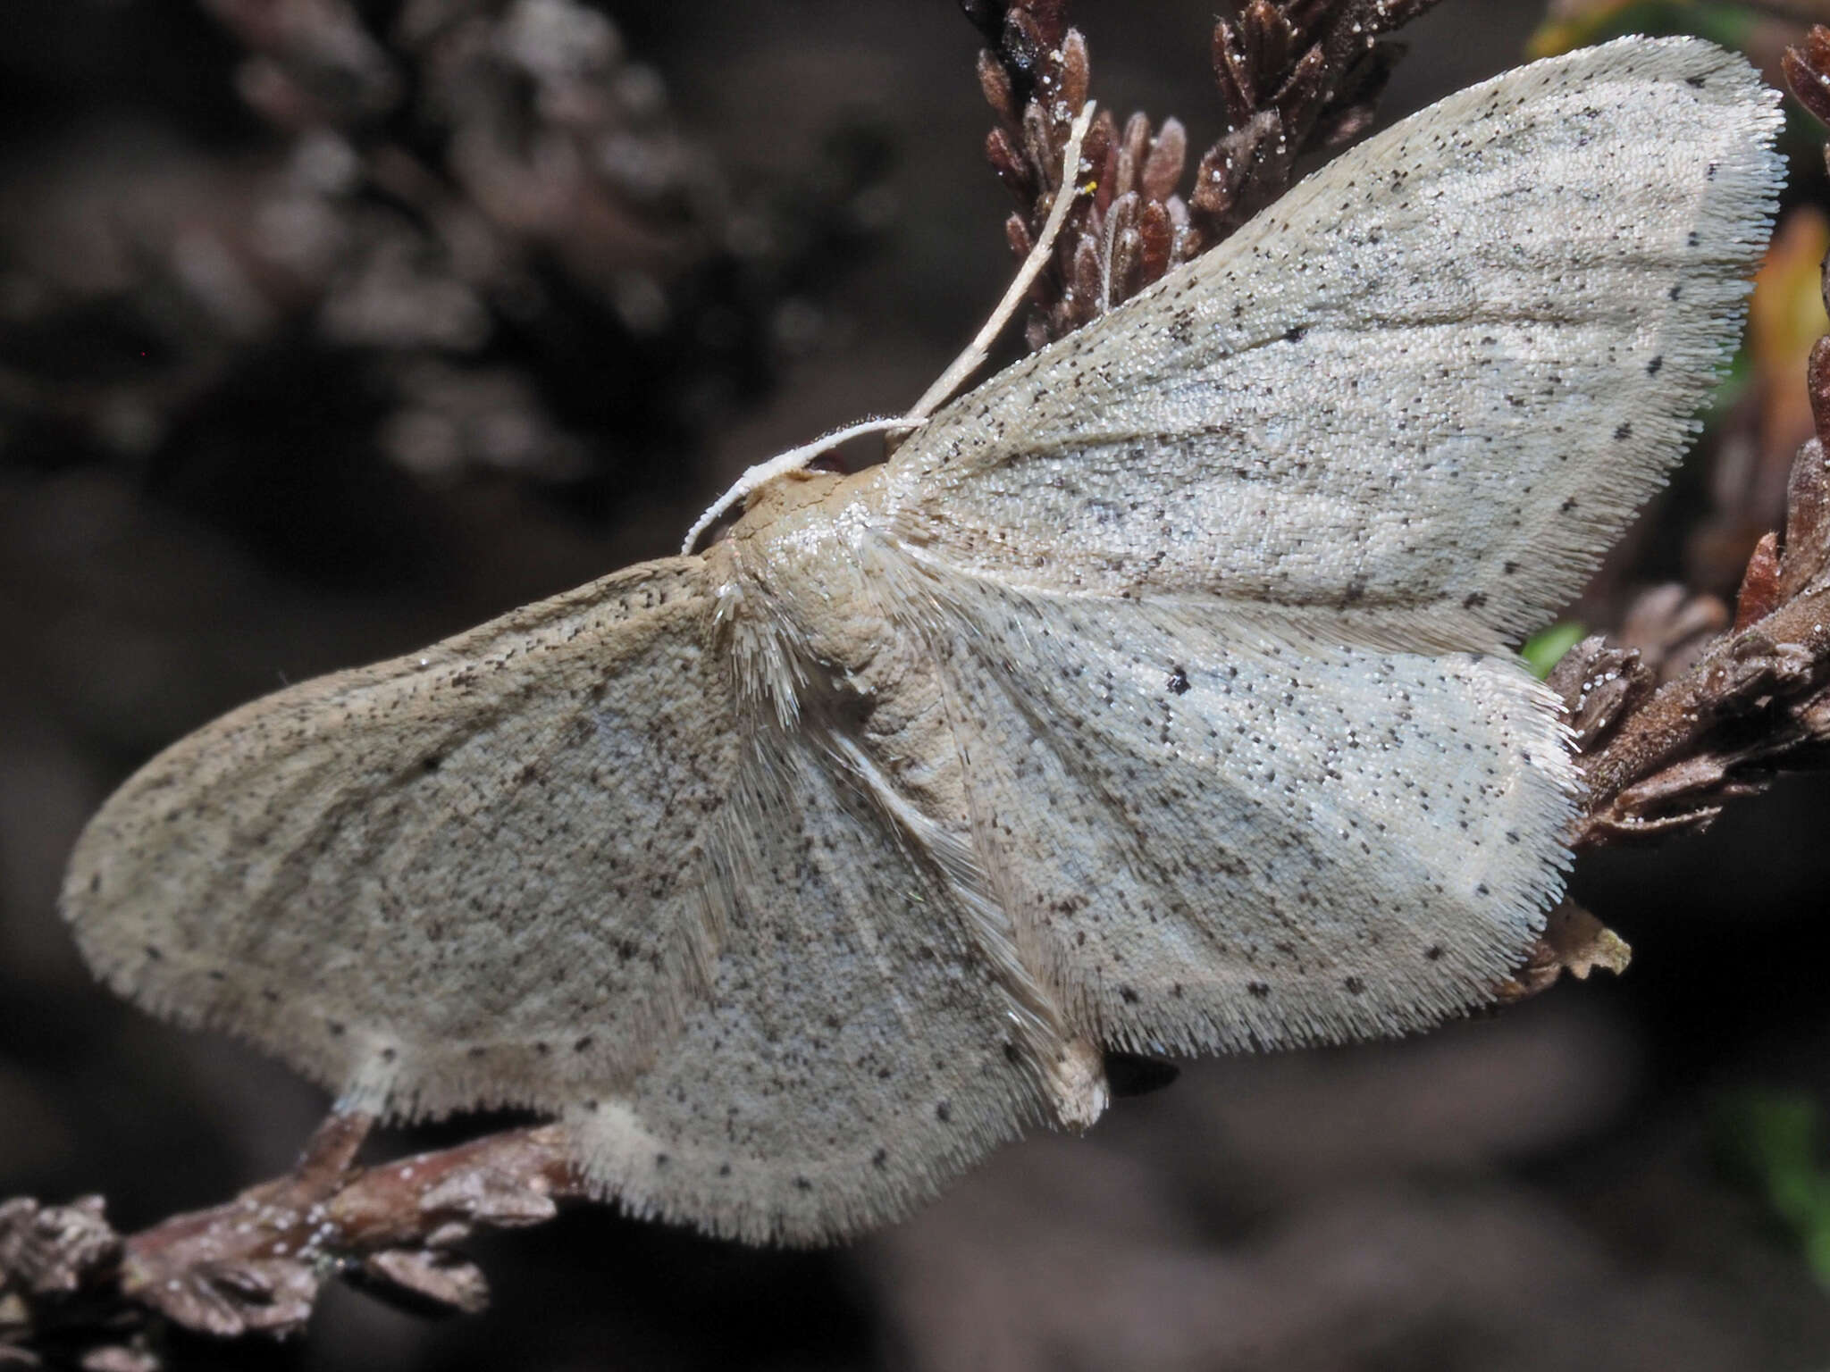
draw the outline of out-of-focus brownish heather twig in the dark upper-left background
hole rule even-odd
[[[869,221],[882,166],[862,143],[792,194],[739,194],[580,0],[201,7],[271,130],[258,166],[174,152],[55,188],[106,203],[121,269],[40,241],[55,203],[0,234],[27,263],[9,327],[86,337],[75,368],[0,360],[9,423],[64,461],[143,461],[264,368],[315,360],[355,373],[364,404],[302,406],[304,446],[430,481],[664,487],[681,465],[661,459],[728,412],[708,399],[756,395],[814,340],[805,296]]]

